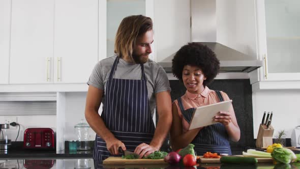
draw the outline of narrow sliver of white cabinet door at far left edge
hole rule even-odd
[[[8,84],[11,0],[0,1],[0,84]]]

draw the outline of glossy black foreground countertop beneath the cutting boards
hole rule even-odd
[[[200,163],[194,167],[180,167],[178,165],[169,164],[115,164],[115,165],[94,165],[92,158],[86,159],[14,159],[0,160],[0,168],[207,168],[207,169],[226,169],[226,168],[300,168],[300,163],[291,164],[272,164],[272,163],[257,163],[257,164],[222,164],[222,163]]]

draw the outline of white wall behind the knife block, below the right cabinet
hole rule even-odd
[[[286,131],[286,138],[291,137],[294,127],[300,125],[300,90],[269,90],[252,93],[254,138],[257,137],[258,127],[263,112],[273,111],[272,126],[275,131]]]

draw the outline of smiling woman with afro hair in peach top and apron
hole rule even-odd
[[[172,72],[187,91],[172,104],[171,146],[174,151],[192,143],[197,155],[206,152],[231,155],[229,139],[237,142],[241,132],[232,105],[220,111],[213,125],[189,130],[196,107],[230,100],[226,93],[208,89],[220,69],[216,54],[206,45],[189,43],[179,49],[172,60]]]

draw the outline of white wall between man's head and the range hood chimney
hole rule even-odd
[[[157,62],[190,42],[190,1],[155,1],[154,34]]]

